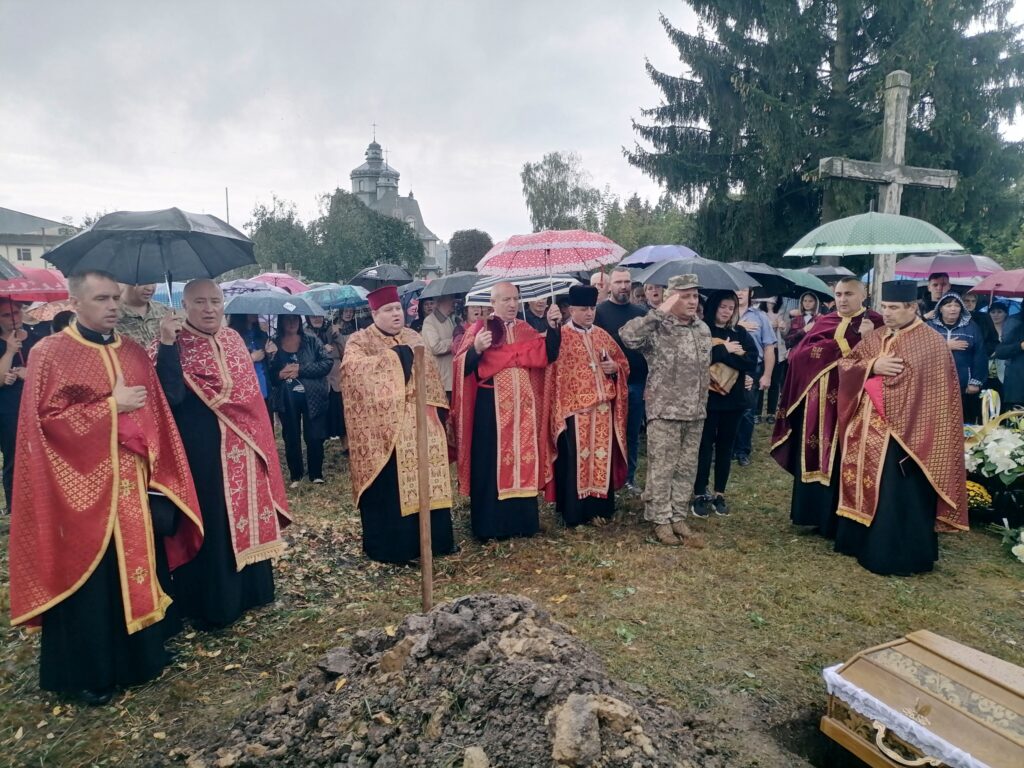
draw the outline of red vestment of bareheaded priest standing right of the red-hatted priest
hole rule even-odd
[[[538,440],[541,403],[544,392],[544,369],[548,353],[544,337],[524,321],[506,327],[500,345],[485,349],[475,376],[466,376],[466,353],[473,347],[476,334],[485,328],[474,323],[463,335],[453,359],[452,435],[455,442],[459,483],[469,495],[469,465],[473,450],[473,414],[480,382],[494,379],[495,422],[498,425],[498,499],[521,499],[537,496],[543,483],[541,452]]]

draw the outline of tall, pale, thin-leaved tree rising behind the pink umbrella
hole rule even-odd
[[[598,227],[601,193],[579,155],[548,153],[539,163],[525,163],[520,178],[534,231]]]

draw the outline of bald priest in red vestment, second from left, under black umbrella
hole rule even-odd
[[[188,456],[206,541],[175,574],[182,609],[219,629],[273,600],[271,559],[290,521],[278,443],[252,357],[223,326],[224,297],[211,280],[185,286],[182,321],[161,322],[157,374]],[[301,375],[301,373],[300,373]]]

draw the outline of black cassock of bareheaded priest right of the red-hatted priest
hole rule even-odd
[[[545,346],[548,362],[558,357],[560,333],[549,333]],[[476,376],[480,355],[473,347],[466,352],[466,376]],[[538,411],[541,403],[537,403]],[[473,411],[473,453],[469,461],[470,524],[480,541],[530,537],[541,529],[537,496],[498,498],[498,423],[495,417],[495,382],[486,379],[476,389]],[[541,468],[539,471],[543,471]]]

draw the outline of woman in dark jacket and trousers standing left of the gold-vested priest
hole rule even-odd
[[[302,439],[306,443],[309,478],[324,482],[324,440],[327,437],[329,388],[333,360],[315,336],[302,331],[302,317],[278,317],[278,351],[270,359],[270,379],[276,383],[273,410],[281,419],[285,459],[292,487],[303,476]]]

